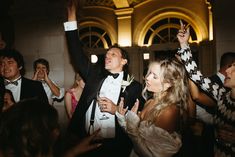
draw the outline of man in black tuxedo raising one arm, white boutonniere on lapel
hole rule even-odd
[[[124,97],[125,104],[131,109],[136,99],[141,97],[142,91],[141,84],[131,79],[128,74],[128,55],[122,48],[113,46],[106,53],[105,67],[101,64],[92,65],[84,54],[79,40],[75,5],[68,7],[68,22],[64,26],[71,61],[85,81],[68,132],[82,138],[101,128],[102,146],[87,156],[127,157],[132,143],[118,125],[115,112],[120,97]]]

